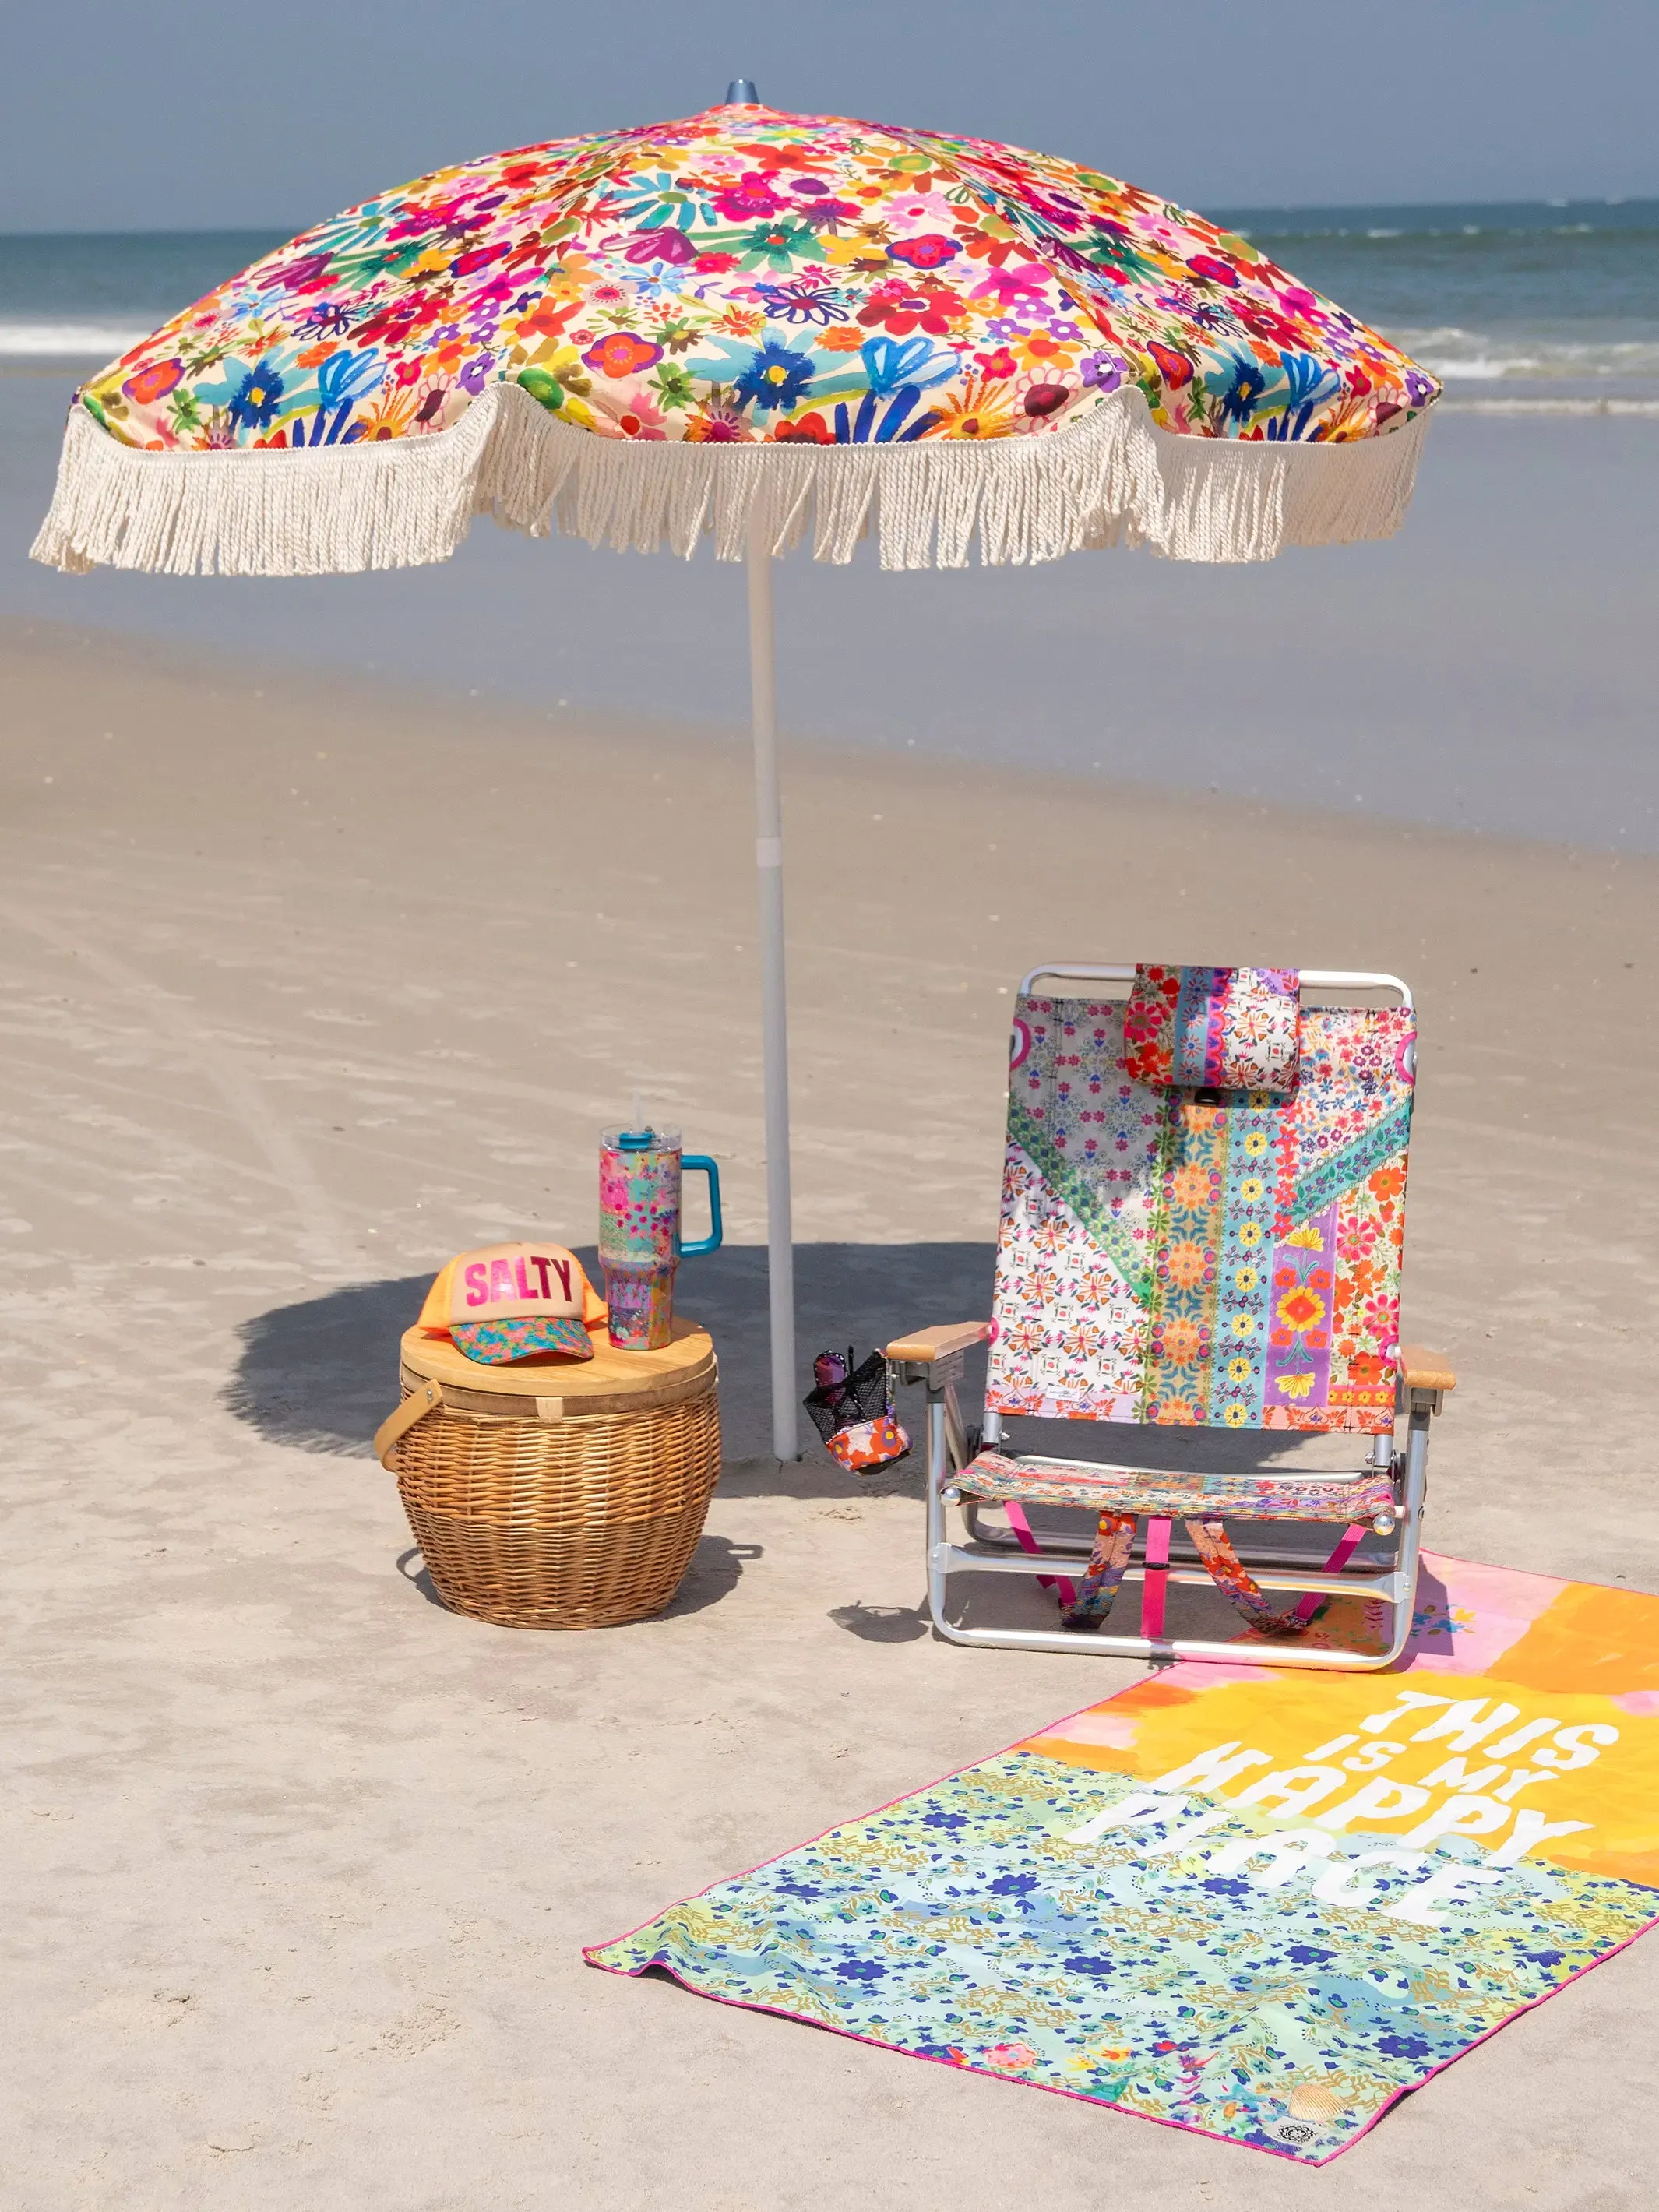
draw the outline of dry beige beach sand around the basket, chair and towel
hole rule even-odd
[[[964,1652],[918,1482],[765,1458],[739,745],[0,630],[13,2119],[58,2208],[1637,2208],[1659,1944],[1323,2172],[582,1966],[1130,1681]],[[984,1307],[1044,958],[1418,989],[1429,1542],[1659,1590],[1659,863],[792,748],[803,1354]],[[728,1179],[728,1469],[672,1610],[431,1599],[365,1438],[453,1250],[593,1234],[635,1084]]]

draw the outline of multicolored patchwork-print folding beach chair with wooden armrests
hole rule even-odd
[[[1429,1420],[1455,1385],[1442,1358],[1398,1343],[1413,1075],[1411,993],[1394,975],[1026,975],[991,1321],[887,1345],[894,1380],[927,1389],[940,1635],[1239,1663],[1237,1632],[1166,1632],[1168,1586],[1214,1584],[1256,1632],[1252,1666],[1400,1657]],[[958,1383],[987,1340],[984,1427],[971,1436]],[[1031,1420],[1141,1425],[1139,1464],[1015,1449],[1011,1429]],[[1310,1442],[1296,1440],[1314,1436],[1336,1467],[1298,1464]],[[951,1509],[964,1542],[949,1535]],[[1068,1509],[1077,1533],[1040,1537],[1031,1515],[1051,1509]],[[953,1617],[964,1571],[1040,1577],[1060,1621]],[[1104,1628],[1124,1582],[1141,1586],[1137,1635]],[[1301,1595],[1281,1606],[1276,1593]],[[1363,1635],[1314,1632],[1336,1597],[1363,1601],[1343,1608]]]

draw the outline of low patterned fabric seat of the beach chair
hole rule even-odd
[[[1354,1475],[1166,1475],[1077,1460],[1020,1460],[982,1451],[951,1482],[978,1504],[1084,1506],[1091,1513],[1150,1513],[1168,1520],[1394,1520],[1394,1482],[1367,1467]]]

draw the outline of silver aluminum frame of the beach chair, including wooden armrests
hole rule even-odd
[[[1133,967],[1077,967],[1044,964],[1031,969],[1020,982],[1020,998],[1031,993],[1037,980],[1062,982],[1133,982]],[[1411,1011],[1411,991],[1398,975],[1369,971],[1303,969],[1303,989],[1312,991],[1398,991],[1400,1002]],[[1356,1480],[1378,1469],[1387,1469],[1394,1480],[1396,1515],[1391,1551],[1383,1557],[1369,1546],[1360,1546],[1347,1566],[1329,1573],[1310,1564],[1305,1555],[1285,1548],[1239,1546],[1239,1559],[1263,1590],[1301,1590],[1329,1597],[1374,1597],[1389,1608],[1389,1639],[1383,1652],[1307,1650],[1290,1639],[1256,1637],[1248,1646],[1237,1639],[1179,1635],[1126,1635],[1106,1628],[964,1628],[951,1619],[949,1584],[951,1575],[1035,1575],[1046,1582],[1064,1579],[1088,1557],[1091,1540],[1055,1535],[1042,1548],[1029,1551],[1013,1535],[998,1535],[980,1526],[982,1506],[962,1498],[958,1475],[969,1464],[969,1442],[958,1402],[964,1352],[982,1343],[989,1323],[956,1323],[936,1329],[918,1329],[914,1336],[887,1345],[887,1363],[894,1383],[922,1385],[927,1391],[927,1606],[933,1628],[951,1644],[978,1644],[995,1650],[1055,1650],[1055,1652],[1099,1652],[1117,1659],[1152,1659],[1168,1663],[1177,1659],[1221,1661],[1237,1666],[1245,1652],[1250,1666],[1323,1668],[1343,1672],[1376,1672],[1394,1666],[1405,1652],[1411,1635],[1416,1608],[1418,1553],[1422,1531],[1422,1509],[1427,1498],[1429,1422],[1442,1409],[1444,1394],[1455,1387],[1455,1374],[1440,1354],[1400,1347],[1400,1376],[1394,1431],[1371,1440],[1371,1453],[1358,1469],[1323,1469],[1321,1480],[1340,1480],[1352,1473]],[[1018,1416],[1015,1416],[1018,1418]],[[1006,1416],[987,1409],[984,1444],[1004,1442]],[[1402,1433],[1400,1433],[1402,1431]],[[1340,1431],[1338,1431],[1340,1433]],[[1031,1458],[1031,1464],[1097,1475],[1099,1464],[1088,1460]],[[1119,1469],[1115,1469],[1119,1471]],[[1186,1469],[1197,1473],[1201,1469]],[[1152,1469],[1121,1469],[1121,1473],[1148,1473]],[[1161,1473],[1168,1473],[1164,1469]],[[1294,1478],[1283,1478],[1287,1484]],[[947,1509],[960,1509],[967,1524],[967,1544],[951,1542]],[[1263,1524],[1272,1526],[1272,1524]],[[1279,1524],[1283,1526],[1283,1524]],[[1292,1524],[1298,1526],[1298,1524]],[[1332,1524],[1327,1524],[1332,1526]],[[1190,1544],[1172,1542],[1170,1564],[1146,1562],[1146,1540],[1137,1537],[1137,1564],[1124,1573],[1124,1582],[1146,1584],[1148,1571],[1164,1575],[1166,1584],[1192,1584],[1214,1588],[1203,1566],[1188,1566],[1197,1559]]]

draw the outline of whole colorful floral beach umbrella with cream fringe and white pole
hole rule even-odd
[[[436,170],[84,385],[35,557],[445,560],[473,515],[748,560],[772,1429],[796,1455],[772,557],[887,568],[1391,533],[1438,385],[1241,234],[1099,170],[785,115]]]

